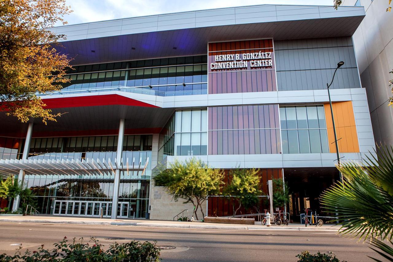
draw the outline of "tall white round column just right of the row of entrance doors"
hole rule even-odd
[[[123,140],[124,140],[124,119],[120,119],[119,124],[119,137],[118,137],[118,148],[116,151],[116,164],[117,166],[121,163],[121,155],[123,154]],[[118,203],[119,203],[119,187],[120,187],[120,170],[115,170],[115,180],[113,186],[113,197],[112,197],[112,214],[110,218],[116,219],[118,216]]]

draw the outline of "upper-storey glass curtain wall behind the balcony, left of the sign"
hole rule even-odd
[[[176,93],[182,94],[207,92],[206,55],[80,65],[73,68],[65,76],[71,81],[64,83],[63,90],[127,86],[171,93],[179,91]]]

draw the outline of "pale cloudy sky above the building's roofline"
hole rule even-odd
[[[68,24],[81,24],[127,17],[158,15],[200,9],[260,4],[331,6],[333,0],[66,0],[73,12]],[[61,24],[56,24],[61,26]]]

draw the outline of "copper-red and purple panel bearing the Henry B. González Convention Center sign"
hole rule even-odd
[[[263,91],[277,91],[273,39],[209,43],[209,94]]]

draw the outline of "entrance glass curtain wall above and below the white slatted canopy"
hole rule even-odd
[[[110,159],[115,161],[117,141],[117,136],[33,138],[29,159],[105,159],[106,161]],[[128,162],[131,166],[135,159],[135,164],[139,165],[141,159],[141,166],[144,166],[149,159],[147,170],[143,175],[136,171],[121,172],[119,202],[127,203],[121,206],[127,209],[125,210],[127,212],[122,211],[126,217],[143,218],[147,212],[151,150],[152,135],[125,135],[123,164]],[[39,212],[54,214],[55,206],[63,203],[70,208],[82,208],[82,204],[96,205],[100,201],[109,203],[112,201],[113,181],[112,172],[101,172],[99,175],[77,173],[74,175],[26,175],[24,185],[30,188],[37,197]],[[73,212],[72,210],[71,208],[70,212]],[[78,210],[81,212],[81,209]]]

